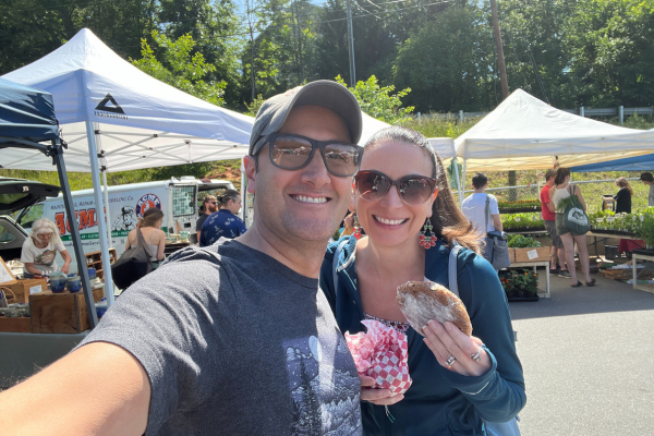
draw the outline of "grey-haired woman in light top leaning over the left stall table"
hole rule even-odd
[[[25,264],[25,272],[33,276],[47,276],[59,270],[55,261],[57,253],[63,258],[61,271],[68,274],[71,267],[71,255],[68,253],[59,230],[48,218],[39,218],[32,225],[32,234],[23,243],[21,262]]]

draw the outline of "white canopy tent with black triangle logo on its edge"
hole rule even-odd
[[[69,144],[66,168],[92,173],[96,204],[102,204],[100,171],[240,158],[247,153],[253,118],[153,78],[87,28],[50,55],[3,77],[52,94],[62,136]],[[98,158],[90,158],[95,156]],[[0,165],[56,170],[49,159],[26,150],[3,150]],[[105,222],[104,210],[98,208],[105,294],[111,301]]]

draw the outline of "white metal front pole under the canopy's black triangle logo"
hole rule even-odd
[[[100,240],[100,253],[102,257],[102,274],[105,280],[105,298],[107,307],[113,304],[113,280],[111,279],[111,265],[109,263],[109,246],[107,245],[107,221],[105,221],[105,205],[102,203],[102,189],[98,168],[98,153],[95,141],[95,129],[93,121],[86,121],[86,137],[88,140],[88,157],[90,161],[90,177],[93,180],[93,196],[96,204],[96,217],[98,219],[98,238]],[[109,205],[107,204],[107,207]],[[83,265],[86,265],[85,263]]]

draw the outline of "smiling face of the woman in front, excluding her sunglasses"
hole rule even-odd
[[[405,175],[432,177],[432,161],[417,146],[395,141],[385,141],[365,150],[361,170],[382,172],[392,180]],[[361,227],[375,244],[397,246],[404,243],[419,245],[419,233],[436,197],[419,205],[408,205],[398,189],[390,186],[386,195],[376,201],[366,201],[359,192],[354,195],[356,216]]]

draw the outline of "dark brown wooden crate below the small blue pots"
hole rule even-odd
[[[95,302],[102,298],[102,289],[94,289]],[[45,291],[29,295],[33,334],[78,334],[90,328],[84,293]]]

